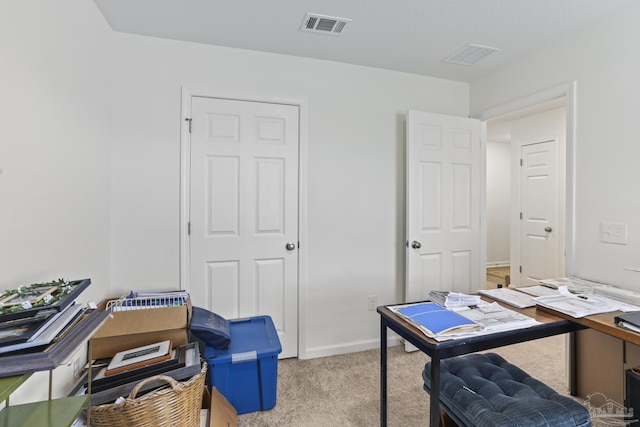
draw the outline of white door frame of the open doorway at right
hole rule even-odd
[[[575,212],[576,212],[576,106],[577,82],[552,87],[511,102],[488,108],[478,115],[478,119],[488,122],[500,116],[534,107],[558,98],[565,98],[566,141],[565,141],[565,275],[573,276],[575,268]],[[482,223],[486,238],[487,225]]]

